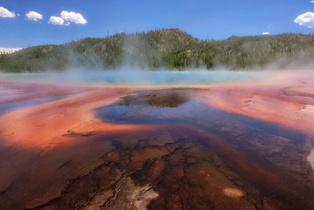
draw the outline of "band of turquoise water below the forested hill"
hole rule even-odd
[[[64,73],[2,74],[4,79],[22,79],[61,83],[101,83],[129,85],[191,85],[217,82],[257,81],[272,76],[272,72],[257,71],[68,71]]]

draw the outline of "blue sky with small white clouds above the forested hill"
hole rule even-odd
[[[314,31],[311,0],[0,0],[0,50],[180,28],[200,39]]]

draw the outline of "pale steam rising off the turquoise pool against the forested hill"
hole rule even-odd
[[[264,32],[265,34],[268,32]],[[62,73],[52,70],[53,60],[47,61],[45,69],[50,70],[50,73],[42,74],[0,74],[0,79],[20,79],[37,82],[52,82],[57,84],[68,83],[97,83],[100,85],[208,85],[213,83],[226,82],[255,82],[263,80],[276,79],[287,76],[287,71],[312,71],[314,63],[306,54],[313,54],[314,48],[308,47],[302,53],[296,53],[294,57],[286,58],[284,56],[278,58],[275,62],[268,65],[258,65],[258,60],[253,60],[256,64],[252,67],[252,71],[229,71],[234,66],[216,67],[214,71],[207,70],[202,63],[199,62],[198,68],[190,67],[184,71],[160,69],[158,71],[150,71],[152,69],[151,57],[147,57],[147,52],[144,50],[143,42],[148,40],[140,40],[135,34],[126,34],[120,41],[124,41],[123,51],[117,61],[122,61],[121,67],[108,69],[100,55],[93,50],[87,49],[83,54],[79,54],[74,49],[66,49],[66,70]],[[243,43],[243,53],[253,53],[255,43]],[[268,48],[267,43],[260,42],[258,46]],[[93,47],[93,46],[91,46]],[[299,52],[299,51],[298,51]],[[155,53],[155,54],[154,54]],[[154,52],[154,49],[149,52],[154,59],[161,59],[160,54]],[[216,57],[218,59],[219,56]],[[304,60],[304,57],[307,60]],[[232,58],[230,58],[232,59]],[[231,63],[236,63],[235,58]],[[117,62],[116,61],[116,62]],[[119,63],[117,62],[117,63]],[[219,62],[215,62],[218,66]],[[285,71],[281,73],[280,71]],[[51,73],[54,72],[54,73]],[[2,73],[2,72],[0,72]]]

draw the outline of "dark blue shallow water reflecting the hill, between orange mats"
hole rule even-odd
[[[129,93],[113,105],[96,110],[103,122],[139,124],[186,124],[208,130],[249,138],[249,133],[261,132],[265,136],[281,136],[295,143],[305,143],[309,136],[278,125],[247,116],[221,111],[200,102],[207,89],[169,88]],[[220,129],[230,129],[221,132]],[[242,139],[244,140],[244,139]]]

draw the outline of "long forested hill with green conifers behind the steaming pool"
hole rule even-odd
[[[314,59],[314,36],[284,33],[199,40],[179,29],[161,29],[106,38],[84,38],[61,45],[40,45],[0,54],[0,70],[62,71],[70,67],[114,69],[121,65],[146,69],[252,69],[284,59]]]

